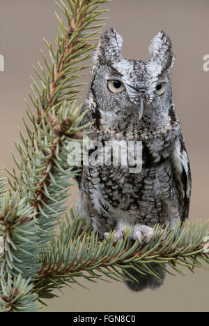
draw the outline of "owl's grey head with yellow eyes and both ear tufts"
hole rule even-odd
[[[111,28],[102,34],[93,53],[91,91],[100,115],[113,121],[127,117],[127,112],[138,121],[160,119],[171,106],[171,40],[160,31],[152,40],[147,61],[123,58],[122,43]]]

